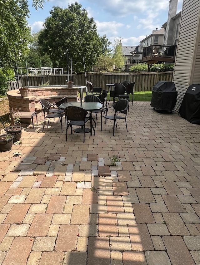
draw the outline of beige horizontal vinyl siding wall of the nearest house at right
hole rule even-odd
[[[178,91],[178,99],[175,110],[179,110],[188,86],[193,83],[192,71],[195,70],[195,73],[197,73],[200,63],[200,53],[198,59],[196,59],[197,52],[195,53],[195,47],[199,44],[199,34],[197,38],[197,28],[199,27],[199,8],[199,0],[183,0],[173,76],[173,81]],[[195,76],[197,77],[197,74],[195,74]],[[195,82],[200,83],[200,75],[195,79]]]

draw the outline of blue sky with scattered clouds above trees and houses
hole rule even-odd
[[[27,19],[32,32],[42,28],[45,18],[49,17],[53,6],[67,8],[73,0],[50,0],[43,10],[36,11],[30,3],[30,17]],[[123,38],[122,45],[136,46],[160,29],[167,21],[169,0],[76,0],[93,17],[100,36],[104,34],[114,43],[115,37]],[[177,12],[182,9],[183,0],[178,0]]]

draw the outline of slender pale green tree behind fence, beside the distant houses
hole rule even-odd
[[[121,46],[121,38],[115,38],[113,44],[113,62],[115,65],[115,69],[117,68],[118,71],[122,71],[123,66],[126,62],[126,57],[123,56],[122,53],[122,46]]]

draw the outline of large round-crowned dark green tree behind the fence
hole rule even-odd
[[[54,67],[67,69],[68,58],[69,66],[72,59],[76,72],[84,70],[84,57],[86,70],[90,70],[102,51],[93,18],[77,2],[65,9],[53,7],[50,15],[38,37],[42,52],[50,56]]]

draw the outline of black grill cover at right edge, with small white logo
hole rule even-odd
[[[188,87],[178,112],[181,117],[195,124],[200,124],[200,85]]]

